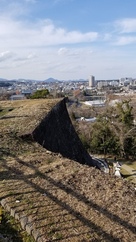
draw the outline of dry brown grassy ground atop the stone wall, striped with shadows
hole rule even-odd
[[[40,242],[136,241],[133,183],[20,137],[56,102],[0,103],[0,200],[27,217]]]

